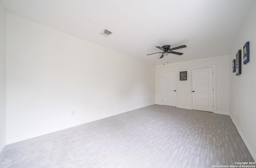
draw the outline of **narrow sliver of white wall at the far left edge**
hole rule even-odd
[[[6,144],[6,11],[0,1],[0,153]]]

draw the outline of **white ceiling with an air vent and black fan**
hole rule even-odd
[[[163,64],[155,46],[187,45],[169,63],[228,55],[254,0],[2,0],[6,10],[52,28]],[[99,33],[112,31],[108,38]]]

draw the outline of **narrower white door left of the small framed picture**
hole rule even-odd
[[[176,71],[164,72],[162,78],[163,105],[176,107]]]

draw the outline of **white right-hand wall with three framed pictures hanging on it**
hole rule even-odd
[[[239,49],[250,42],[250,62],[242,63],[242,74],[236,76],[230,69],[230,116],[248,150],[256,160],[256,2],[230,52],[230,66]],[[243,50],[242,50],[243,51]],[[242,55],[243,59],[243,55]],[[237,119],[238,115],[238,119]]]

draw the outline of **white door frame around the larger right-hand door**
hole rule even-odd
[[[201,68],[211,68],[213,71],[212,75],[212,82],[213,82],[213,113],[216,113],[216,65],[205,65],[200,67],[191,67],[190,68],[190,75],[189,75],[189,81],[190,81],[190,109],[192,110],[192,69],[201,69]]]

